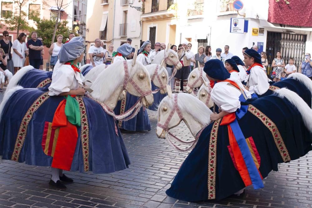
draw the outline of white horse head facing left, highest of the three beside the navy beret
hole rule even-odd
[[[206,77],[206,73],[203,71],[203,68],[200,67],[195,68],[188,75],[188,85],[186,86],[186,92],[191,93],[193,88],[200,87],[202,86],[202,84],[205,84],[206,82],[209,83],[209,80]]]

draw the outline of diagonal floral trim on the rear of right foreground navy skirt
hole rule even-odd
[[[280,156],[284,162],[289,162],[291,159],[288,150],[275,123],[253,105],[248,106],[248,111],[260,119],[261,122],[271,131],[275,145],[280,152]]]

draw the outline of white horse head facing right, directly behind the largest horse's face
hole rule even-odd
[[[156,87],[159,88],[161,94],[167,93],[167,84],[169,81],[168,72],[165,67],[162,66],[163,61],[160,65],[150,64],[146,65],[146,69],[149,71],[151,81]]]

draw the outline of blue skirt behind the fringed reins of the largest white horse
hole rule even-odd
[[[126,104],[124,106],[124,112],[130,109],[137,101],[139,97],[136,97],[127,92],[126,95]],[[120,114],[121,110],[121,101],[117,102],[117,105],[114,109],[116,115]],[[123,128],[128,131],[150,131],[151,123],[149,122],[149,115],[147,114],[147,110],[144,107],[141,107],[139,113],[128,121],[119,121],[119,128]]]

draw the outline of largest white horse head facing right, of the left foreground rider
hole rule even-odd
[[[97,75],[91,85],[92,98],[114,109],[119,95],[126,89],[130,94],[142,97],[143,106],[152,105],[154,97],[151,92],[149,72],[143,64],[136,61],[136,57],[134,55],[133,60],[117,61],[106,70],[104,70],[105,65],[100,65],[102,72]]]

